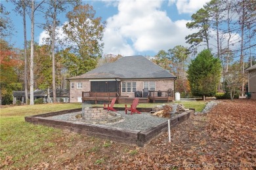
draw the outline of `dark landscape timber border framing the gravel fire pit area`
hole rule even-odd
[[[124,108],[115,108],[117,110],[124,110]],[[137,108],[140,111],[150,112],[149,108]],[[39,124],[43,126],[51,126],[58,129],[72,131],[81,135],[88,135],[98,137],[100,139],[107,139],[116,141],[118,143],[132,144],[143,147],[145,144],[150,143],[152,139],[161,135],[168,130],[168,121],[158,124],[158,126],[150,127],[144,131],[122,129],[119,127],[110,127],[100,124],[89,124],[84,122],[74,122],[66,120],[56,120],[49,118],[60,114],[67,114],[72,112],[79,112],[82,109],[62,110],[58,112],[49,112],[45,114],[37,114],[34,116],[26,116],[25,121],[32,124]],[[181,114],[177,114],[170,118],[171,129],[177,124],[184,122],[190,117],[190,114],[194,114],[194,109],[186,110]],[[135,115],[131,115],[135,116]]]

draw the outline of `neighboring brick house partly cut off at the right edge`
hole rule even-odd
[[[256,99],[256,64],[246,71],[248,71],[248,92],[251,93],[251,99]]]

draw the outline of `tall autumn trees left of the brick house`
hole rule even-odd
[[[65,78],[69,75],[81,75],[96,67],[98,58],[102,55],[103,32],[106,27],[106,22],[102,18],[96,17],[95,10],[91,5],[82,5],[81,1],[76,0],[11,0],[16,6],[15,12],[23,18],[24,26],[24,49],[17,50],[21,66],[10,65],[13,75],[16,78],[14,82],[20,82],[25,89],[26,102],[28,102],[28,89],[30,89],[30,105],[33,105],[33,90],[35,88],[53,89],[53,102],[56,103],[56,86],[62,88],[61,84],[65,82]],[[68,7],[72,9],[67,12]],[[1,7],[1,25],[0,29],[3,39],[1,42],[7,43],[6,37],[11,36],[12,25],[9,22],[9,12]],[[58,39],[56,31],[60,26],[59,15],[66,12],[68,22],[62,26],[62,30],[66,37]],[[39,46],[34,42],[34,26],[36,14],[43,14],[44,23],[40,23],[47,31],[48,37],[44,39],[44,44]],[[26,38],[26,16],[30,17],[31,22],[31,40]],[[3,21],[3,22],[2,22]],[[7,43],[7,46],[11,44]],[[62,47],[60,50],[59,47]],[[14,49],[6,48],[9,51]],[[1,48],[3,51],[4,48]],[[7,58],[12,58],[8,55]],[[4,64],[1,62],[1,68]],[[22,71],[23,69],[23,71]],[[1,73],[2,69],[1,69]],[[24,74],[24,75],[22,75]],[[65,75],[65,77],[63,77]],[[7,76],[4,73],[1,76]],[[19,80],[22,78],[22,81]],[[8,78],[7,78],[8,79]],[[5,89],[2,84],[5,84],[4,78],[1,77],[1,90]],[[28,86],[29,85],[29,86]],[[67,85],[65,84],[65,88]],[[9,91],[14,90],[10,89]],[[7,97],[11,101],[10,93]],[[0,101],[1,103],[1,101]]]

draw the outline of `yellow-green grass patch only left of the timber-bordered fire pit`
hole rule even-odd
[[[64,134],[60,129],[35,126],[25,122],[24,117],[77,108],[81,108],[81,104],[43,104],[1,108],[0,159],[8,159],[14,168],[24,168],[26,165],[33,165],[42,159],[49,160],[49,154],[45,153],[45,150],[55,147],[54,139],[58,139]],[[1,168],[9,167],[0,163]]]

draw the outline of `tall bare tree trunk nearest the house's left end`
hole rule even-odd
[[[53,31],[52,31],[52,59],[53,59],[53,103],[56,103],[56,83],[55,83],[55,54],[54,54],[54,46],[55,46],[55,29],[56,29],[56,0],[54,0],[54,14],[53,14]]]

